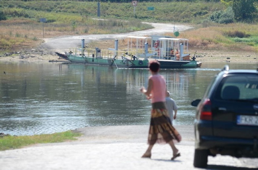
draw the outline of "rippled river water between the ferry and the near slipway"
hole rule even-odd
[[[160,70],[178,106],[174,125],[192,125],[195,107],[212,77],[257,63],[209,63]],[[45,61],[0,61],[0,133],[49,134],[85,126],[147,125],[151,103],[139,92],[148,69],[117,69]],[[5,72],[5,74],[3,73]]]

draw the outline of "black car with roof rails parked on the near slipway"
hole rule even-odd
[[[213,78],[197,106],[193,165],[207,167],[208,156],[258,157],[258,69],[229,70]]]

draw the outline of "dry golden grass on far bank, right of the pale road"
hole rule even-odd
[[[190,49],[202,49],[202,50],[241,50],[246,52],[258,53],[258,44],[254,43],[254,46],[250,46],[247,43],[236,43],[227,37],[229,31],[243,31],[245,34],[249,34],[251,37],[258,38],[257,26],[254,24],[218,24],[212,27],[203,27],[193,30],[187,30],[180,33],[179,38],[189,39]],[[173,36],[172,34],[167,34]]]

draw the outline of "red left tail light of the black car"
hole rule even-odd
[[[200,105],[200,120],[212,120],[210,99],[205,99]]]

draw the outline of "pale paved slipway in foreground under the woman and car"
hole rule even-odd
[[[47,143],[0,152],[1,170],[121,170],[198,169],[193,167],[193,126],[176,126],[182,141],[181,156],[171,161],[168,144],[154,145],[151,159],[141,158],[147,149],[147,125],[85,127],[76,141]],[[258,169],[257,159],[209,157],[207,169]]]

